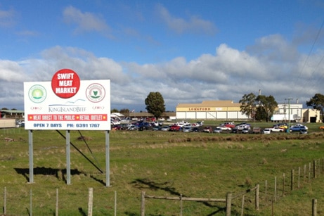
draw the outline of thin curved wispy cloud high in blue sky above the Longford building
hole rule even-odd
[[[216,33],[217,29],[215,25],[208,20],[203,20],[197,16],[191,16],[188,20],[176,18],[161,4],[157,5],[157,11],[164,23],[176,33],[182,34],[184,32],[190,32],[209,35],[214,35]]]

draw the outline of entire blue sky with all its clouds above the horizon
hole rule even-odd
[[[110,80],[111,108],[146,111],[245,94],[324,94],[324,0],[0,0],[0,108],[63,68]]]

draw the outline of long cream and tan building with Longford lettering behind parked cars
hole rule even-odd
[[[240,111],[241,103],[233,101],[202,101],[202,103],[179,103],[176,119],[183,120],[231,120],[247,121],[249,117]]]

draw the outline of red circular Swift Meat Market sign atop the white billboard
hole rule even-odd
[[[80,78],[73,70],[58,70],[52,77],[52,89],[54,94],[62,99],[70,99],[77,94],[79,88]]]

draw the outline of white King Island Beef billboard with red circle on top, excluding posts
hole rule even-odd
[[[70,69],[51,82],[24,82],[25,129],[110,130],[110,80],[79,80]]]

